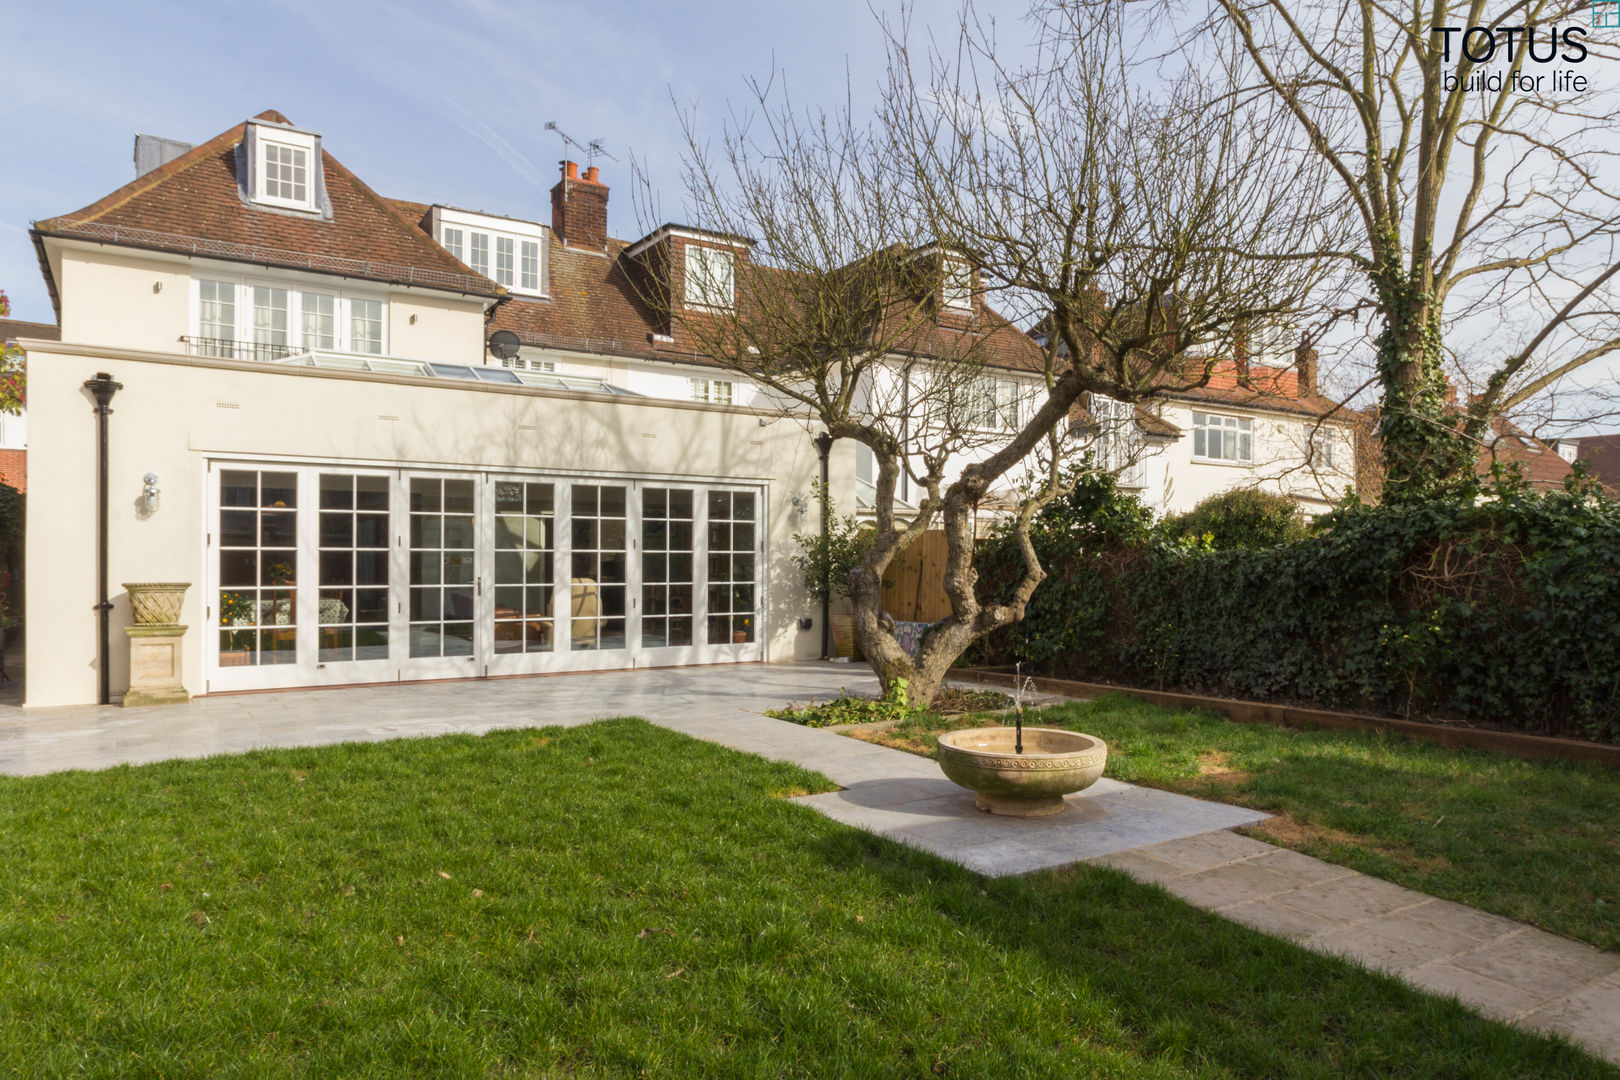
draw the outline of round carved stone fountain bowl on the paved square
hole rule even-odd
[[[1016,753],[1017,730],[972,727],[940,735],[940,767],[975,793],[974,805],[1009,818],[1059,813],[1063,797],[1097,782],[1108,763],[1108,743],[1095,735],[1056,727],[1025,727],[1024,753]]]

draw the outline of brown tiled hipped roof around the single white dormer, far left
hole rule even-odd
[[[287,123],[275,110],[256,120]],[[237,164],[245,131],[237,125],[73,214],[36,222],[36,244],[40,236],[84,238],[476,296],[505,291],[433,243],[324,149],[330,220],[245,202]],[[49,264],[40,264],[55,300]]]

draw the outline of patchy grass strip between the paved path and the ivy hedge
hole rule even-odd
[[[873,742],[1004,717],[917,716]],[[1437,897],[1620,949],[1620,772],[1398,735],[1236,724],[1124,695],[1030,712],[1108,743],[1108,776],[1267,810],[1275,844]]]

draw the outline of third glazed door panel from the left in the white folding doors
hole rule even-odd
[[[476,483],[410,479],[410,654],[473,654]]]

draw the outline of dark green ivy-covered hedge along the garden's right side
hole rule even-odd
[[[1341,508],[1299,539],[1238,551],[1163,529],[1100,536],[1072,518],[1059,508],[1038,529],[1050,576],[978,659],[1620,742],[1614,497],[1503,483]],[[1013,580],[1014,560],[1006,542],[987,547],[982,596]]]

